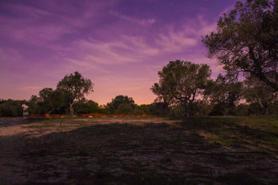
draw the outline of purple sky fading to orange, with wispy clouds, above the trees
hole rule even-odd
[[[201,36],[237,0],[0,0],[0,98],[29,99],[79,71],[95,84],[87,96],[152,103],[149,90],[171,60],[207,63]]]

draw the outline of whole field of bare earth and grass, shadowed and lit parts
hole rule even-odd
[[[0,118],[1,184],[278,184],[278,117]]]

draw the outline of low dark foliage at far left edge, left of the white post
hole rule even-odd
[[[0,117],[21,117],[22,104],[26,104],[26,100],[0,99]]]

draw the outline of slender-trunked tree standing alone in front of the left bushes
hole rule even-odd
[[[93,91],[93,84],[90,79],[83,78],[81,73],[75,72],[65,76],[60,82],[58,82],[57,90],[63,91],[67,94],[67,98],[70,103],[70,112],[74,116],[73,105],[78,103],[79,100],[90,94]]]

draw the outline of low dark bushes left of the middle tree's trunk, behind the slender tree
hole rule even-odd
[[[42,92],[51,93],[46,98]],[[45,95],[45,94],[44,94]],[[70,114],[70,105],[66,98],[62,98],[56,91],[49,88],[42,89],[39,96],[31,96],[30,100],[1,100],[0,99],[0,117],[20,117],[22,116],[22,105],[28,105],[30,114]],[[150,105],[137,105],[133,98],[119,95],[106,105],[99,105],[93,100],[81,100],[74,105],[74,114],[126,114],[140,115],[152,114],[156,116],[170,116],[168,111],[170,107],[163,103],[152,103]]]

